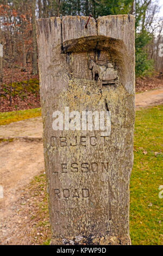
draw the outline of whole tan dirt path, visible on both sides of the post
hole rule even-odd
[[[163,88],[136,94],[136,108],[163,103]],[[41,117],[0,126],[1,138],[18,138],[0,144],[0,244],[27,244],[27,216],[18,215],[22,190],[35,175],[44,172]],[[28,200],[30,200],[28,198]],[[30,230],[30,227],[29,227]],[[22,233],[22,240],[19,235]]]

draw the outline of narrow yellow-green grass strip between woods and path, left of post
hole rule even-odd
[[[31,108],[19,111],[0,112],[0,125],[7,125],[20,120],[39,117],[41,108]]]

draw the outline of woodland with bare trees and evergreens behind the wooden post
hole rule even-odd
[[[136,91],[160,86],[163,17],[159,13],[156,0],[0,0],[0,111],[40,106],[35,19],[42,17],[133,14]]]

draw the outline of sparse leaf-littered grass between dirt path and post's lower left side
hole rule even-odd
[[[26,241],[30,245],[48,245],[51,239],[51,228],[49,224],[46,178],[45,174],[37,175],[26,186],[20,198],[20,212],[22,216],[22,227],[26,226]],[[28,221],[23,222],[23,217]],[[20,232],[21,233],[21,232]],[[19,236],[22,241],[24,236]],[[21,242],[20,242],[21,244]]]

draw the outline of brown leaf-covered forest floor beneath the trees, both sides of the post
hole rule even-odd
[[[163,75],[154,74],[152,77],[136,78],[136,93],[161,87],[163,87]],[[10,87],[10,70],[5,68],[4,80],[0,83],[0,112],[39,107],[39,75],[31,75],[31,67],[28,72],[15,68]]]

